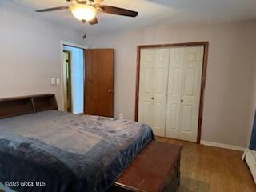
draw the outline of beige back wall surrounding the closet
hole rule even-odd
[[[86,46],[115,49],[114,115],[134,119],[137,46],[209,41],[202,140],[247,146],[254,92],[256,22],[170,26],[89,35]]]

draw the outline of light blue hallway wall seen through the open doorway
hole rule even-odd
[[[72,46],[64,46],[63,50],[71,52],[71,87],[72,87],[72,112],[73,114],[83,113],[84,95],[84,69],[83,50]]]

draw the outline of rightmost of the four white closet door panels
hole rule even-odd
[[[196,142],[202,78],[203,47],[187,47],[182,74],[182,106],[179,138]]]

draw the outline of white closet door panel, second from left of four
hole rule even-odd
[[[154,69],[154,134],[165,136],[169,49],[156,50]]]

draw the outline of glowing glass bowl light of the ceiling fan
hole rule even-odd
[[[71,13],[80,21],[90,22],[96,17],[97,10],[93,6],[74,5],[70,6]]]

